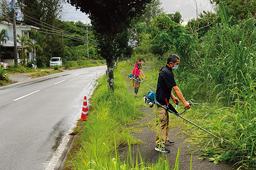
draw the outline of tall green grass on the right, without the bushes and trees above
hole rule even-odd
[[[183,127],[192,135],[190,141],[211,151],[215,163],[235,160],[252,169],[256,168],[255,25],[253,19],[231,28],[216,25],[202,39],[195,37],[190,61],[181,61],[174,71],[184,98],[192,103],[185,117],[222,138],[216,140],[186,122]],[[145,74],[145,83],[155,88],[163,62],[151,62],[148,56],[145,65],[155,66]],[[141,85],[142,95],[148,91],[154,90]]]

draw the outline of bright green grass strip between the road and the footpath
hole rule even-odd
[[[81,148],[72,159],[71,169],[75,170],[169,170],[168,161],[164,156],[158,163],[145,163],[139,154],[134,157],[131,145],[140,143],[130,132],[134,129],[126,128],[136,121],[142,114],[137,110],[133,94],[128,92],[124,74],[118,65],[115,70],[115,91],[109,94],[106,76],[98,80],[98,85],[92,97],[92,111],[80,130],[79,144]],[[122,162],[118,155],[118,146],[127,145],[127,159]],[[178,157],[175,170],[178,170]]]

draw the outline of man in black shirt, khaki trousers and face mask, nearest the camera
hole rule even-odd
[[[156,89],[157,101],[165,106],[168,106],[170,98],[174,103],[184,104],[184,107],[187,109],[190,108],[189,103],[184,99],[181,90],[177,87],[176,82],[174,80],[173,70],[176,70],[179,66],[180,58],[176,54],[172,54],[167,59],[166,66],[162,67],[158,76],[158,84]],[[177,99],[173,93],[172,89],[176,93],[179,99]],[[169,141],[168,139],[168,131],[169,131],[169,114],[168,111],[164,108],[158,106],[158,115],[156,121],[156,148],[155,150],[159,152],[170,152],[166,145],[172,145],[174,142]],[[160,136],[160,137],[159,137]]]

